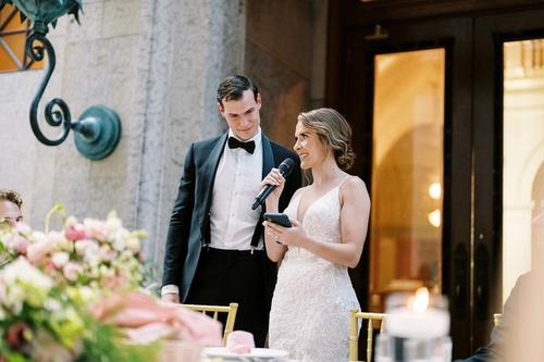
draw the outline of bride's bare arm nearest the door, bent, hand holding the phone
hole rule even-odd
[[[295,227],[286,228],[269,224],[269,228],[272,234],[279,235],[285,245],[305,248],[330,262],[356,267],[367,237],[370,198],[364,183],[358,177],[350,177],[341,186],[339,197],[341,244],[323,242],[309,237],[296,221],[293,222]]]

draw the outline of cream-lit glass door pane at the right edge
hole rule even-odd
[[[544,208],[544,38],[503,43],[503,301],[531,269]]]

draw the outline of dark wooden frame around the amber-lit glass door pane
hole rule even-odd
[[[368,39],[364,30],[347,34],[349,46],[345,64],[346,76],[343,91],[342,112],[350,120],[354,130],[354,149],[359,155],[354,173],[359,175],[371,189],[372,117],[373,117],[373,59],[378,53],[408,51],[416,49],[446,49],[445,118],[444,118],[444,223],[443,223],[443,292],[449,296],[452,313],[452,337],[457,350],[468,350],[470,341],[465,336],[471,328],[469,290],[469,249],[471,224],[465,215],[471,210],[470,142],[471,97],[470,63],[463,61],[463,51],[470,50],[471,21],[452,18],[417,24],[391,24],[385,27],[388,39]],[[394,39],[394,41],[391,41]],[[454,47],[455,45],[455,47]],[[363,70],[362,72],[357,70]],[[457,74],[457,77],[453,77]],[[452,108],[453,99],[456,107]],[[361,101],[363,100],[363,101]],[[454,172],[455,171],[455,172]],[[453,195],[456,195],[454,198]],[[456,210],[456,212],[454,212]],[[369,235],[368,240],[371,239]],[[354,285],[361,305],[368,309],[370,250],[367,246],[360,266],[351,272]],[[454,250],[457,259],[453,259]]]

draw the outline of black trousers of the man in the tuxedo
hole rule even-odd
[[[251,253],[205,247],[185,303],[238,303],[234,329],[252,333],[256,346],[263,347],[272,296],[268,290],[267,263],[262,250]]]

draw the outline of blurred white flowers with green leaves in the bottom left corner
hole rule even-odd
[[[87,311],[82,289],[54,279],[18,257],[0,271],[0,361],[152,361],[152,348],[122,346],[113,325]]]

